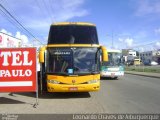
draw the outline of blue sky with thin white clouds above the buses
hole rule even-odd
[[[107,48],[160,49],[160,0],[1,0],[0,4],[42,43],[54,22],[91,22]],[[32,43],[34,38],[3,12],[0,7],[0,31]]]

